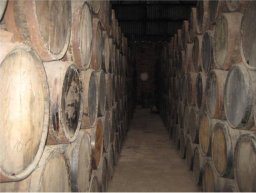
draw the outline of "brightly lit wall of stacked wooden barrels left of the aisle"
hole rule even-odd
[[[0,191],[106,191],[133,114],[109,1],[0,1]]]

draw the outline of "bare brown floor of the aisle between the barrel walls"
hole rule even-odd
[[[137,109],[109,191],[198,191],[159,114]]]

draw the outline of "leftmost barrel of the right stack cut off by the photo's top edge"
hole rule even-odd
[[[198,32],[204,33],[209,28],[209,0],[197,3]]]

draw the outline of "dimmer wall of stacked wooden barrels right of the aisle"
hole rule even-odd
[[[161,114],[203,191],[255,191],[254,1],[199,1],[163,48]]]

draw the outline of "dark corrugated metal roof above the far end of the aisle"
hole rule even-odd
[[[133,40],[168,40],[190,16],[192,1],[114,1],[122,31]]]

